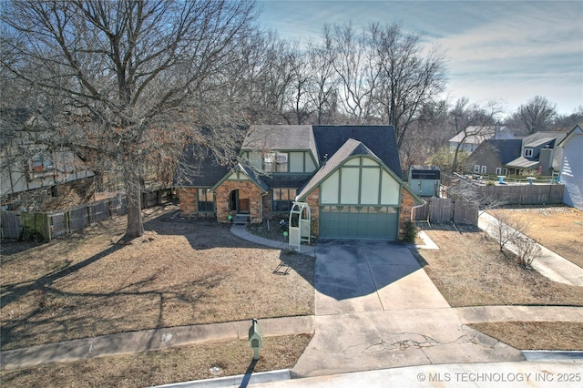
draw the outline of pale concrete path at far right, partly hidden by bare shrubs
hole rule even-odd
[[[490,236],[496,239],[496,223],[495,217],[489,215],[485,211],[480,212],[477,220],[477,226],[481,230],[485,230]],[[548,250],[544,246],[538,244],[542,250],[542,255],[532,262],[532,267],[540,274],[551,281],[583,287],[583,268],[573,264],[571,261],[563,258],[552,250]],[[506,249],[517,252],[516,247],[511,243],[506,244]]]

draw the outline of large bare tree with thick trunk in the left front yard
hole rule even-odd
[[[254,16],[249,1],[14,0],[1,63],[42,97],[51,141],[123,176],[132,238],[148,161],[176,160],[187,142],[234,156],[224,72]]]

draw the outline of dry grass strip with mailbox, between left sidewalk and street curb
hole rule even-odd
[[[292,368],[310,335],[265,338],[252,369],[264,372]],[[0,373],[3,387],[138,387],[247,373],[249,342],[202,343],[154,352],[139,352]],[[210,368],[220,368],[220,374]]]

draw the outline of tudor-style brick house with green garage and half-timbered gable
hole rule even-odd
[[[397,240],[411,209],[422,203],[404,184],[392,126],[253,126],[235,168],[200,159],[199,174],[179,170],[181,212],[286,219],[292,202],[307,202],[313,235]]]

